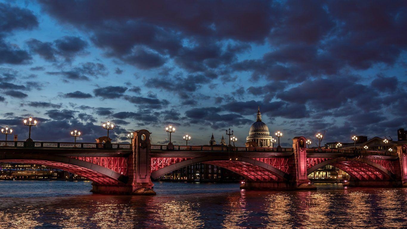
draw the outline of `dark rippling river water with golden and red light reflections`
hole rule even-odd
[[[87,181],[0,181],[0,228],[407,228],[407,188],[317,186],[155,182],[156,196],[111,196],[90,193]]]

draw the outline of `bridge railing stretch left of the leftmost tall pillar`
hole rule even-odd
[[[26,141],[0,141],[0,148],[26,148]],[[73,142],[52,142],[34,141],[33,148],[50,149],[109,149],[105,143],[73,143]],[[112,149],[130,150],[130,144],[112,143]]]

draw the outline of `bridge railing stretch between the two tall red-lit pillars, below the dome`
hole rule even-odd
[[[151,150],[169,150],[168,145],[151,145]],[[228,146],[220,145],[174,145],[173,151],[220,151],[228,152]],[[293,148],[230,147],[234,152],[294,152]]]

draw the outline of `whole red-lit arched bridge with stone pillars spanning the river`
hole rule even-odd
[[[150,132],[133,132],[131,144],[0,141],[0,161],[47,165],[88,178],[92,192],[155,194],[153,183],[168,172],[208,163],[245,177],[242,189],[316,189],[308,174],[333,165],[351,177],[348,185],[407,185],[406,145],[396,152],[307,149],[304,137],[292,148],[151,145]]]

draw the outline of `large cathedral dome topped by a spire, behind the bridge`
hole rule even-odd
[[[256,122],[250,127],[245,145],[246,147],[273,147],[272,139],[269,127],[261,121],[260,107],[258,107]]]

